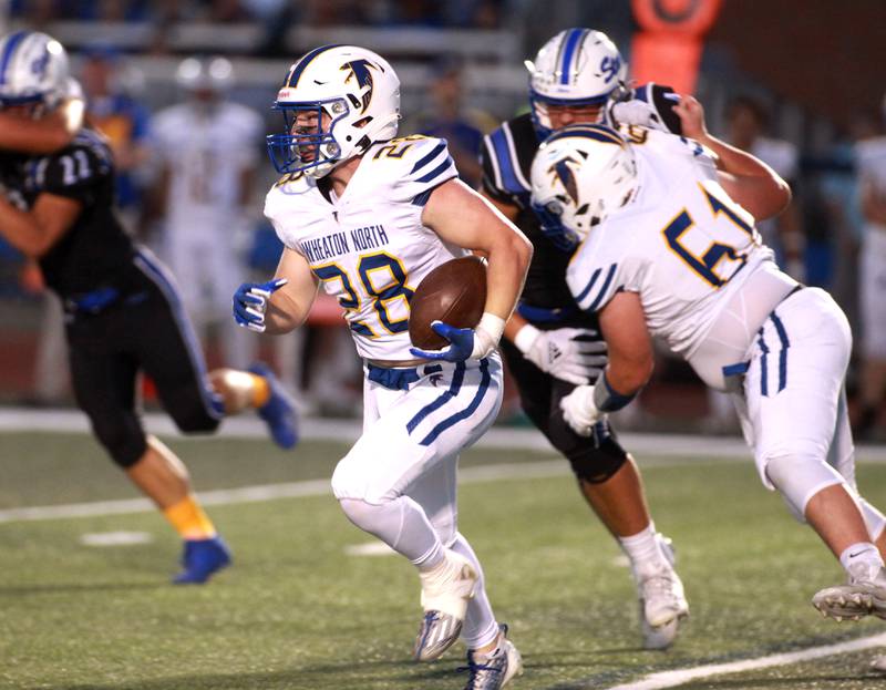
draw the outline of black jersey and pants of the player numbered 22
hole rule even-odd
[[[50,155],[3,154],[0,183],[29,209],[41,194],[80,204],[70,228],[40,258],[62,299],[71,380],[99,441],[124,467],[146,451],[136,411],[144,371],[182,431],[213,431],[220,400],[166,268],[135,245],[114,213],[114,163],[106,141],[84,128]]]

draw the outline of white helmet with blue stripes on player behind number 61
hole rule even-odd
[[[529,70],[533,123],[542,137],[552,132],[548,106],[602,106],[626,89],[628,65],[601,31],[560,31],[542,47],[535,60],[525,64]]]

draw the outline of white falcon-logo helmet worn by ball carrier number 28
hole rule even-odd
[[[323,45],[289,68],[274,109],[282,111],[286,122],[284,134],[267,137],[274,166],[280,173],[322,177],[373,142],[396,135],[400,80],[371,50]],[[299,114],[315,115],[316,130],[296,126]]]

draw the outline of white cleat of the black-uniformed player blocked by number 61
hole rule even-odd
[[[657,535],[668,565],[642,575],[637,583],[643,649],[668,649],[677,639],[680,622],[689,617],[683,583],[673,569],[670,539]]]

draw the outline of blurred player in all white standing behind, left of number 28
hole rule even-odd
[[[234,73],[224,58],[188,58],[176,81],[186,101],[157,113],[153,127],[161,163],[157,203],[165,216],[162,253],[204,339],[209,325],[219,325],[225,363],[245,368],[255,340],[231,319],[230,298],[245,275],[241,249],[254,231],[264,121],[227,100]]]

